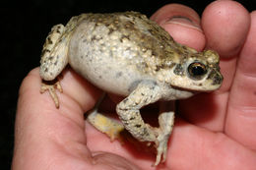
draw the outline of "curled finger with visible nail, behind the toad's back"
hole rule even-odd
[[[177,42],[199,51],[205,47],[200,18],[193,9],[180,4],[169,4],[160,8],[151,19],[168,31]]]

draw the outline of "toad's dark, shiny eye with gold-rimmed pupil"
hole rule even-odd
[[[188,73],[193,79],[200,80],[207,73],[207,69],[204,64],[194,62],[188,66]]]

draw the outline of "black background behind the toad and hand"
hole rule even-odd
[[[256,0],[239,1],[249,11]],[[14,122],[19,87],[26,75],[39,66],[40,51],[50,28],[66,24],[72,16],[88,12],[139,11],[150,17],[168,3],[190,6],[200,15],[210,0],[31,0],[0,3],[0,165],[10,169]],[[39,89],[38,89],[39,90]],[[38,153],[39,154],[39,153]]]

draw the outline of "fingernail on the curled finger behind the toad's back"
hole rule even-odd
[[[193,20],[186,18],[184,16],[172,16],[169,20],[166,20],[161,25],[164,27],[164,25],[168,25],[168,24],[180,25],[180,26],[188,27],[188,28],[196,28],[196,29],[202,31],[200,24],[198,24],[198,23],[194,22]]]

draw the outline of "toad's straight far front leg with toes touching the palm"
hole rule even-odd
[[[159,134],[157,140],[157,158],[154,166],[157,166],[160,161],[164,162],[167,154],[167,142],[171,134],[174,124],[174,112],[163,112],[159,117],[160,129],[157,129]]]

